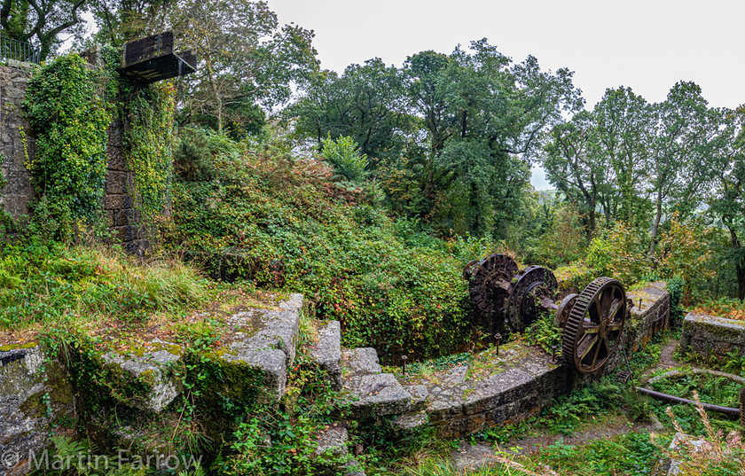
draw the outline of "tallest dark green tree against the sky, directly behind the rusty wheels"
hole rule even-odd
[[[533,57],[514,65],[486,40],[471,50],[457,48],[442,76],[457,126],[439,160],[449,172],[441,186],[465,195],[467,231],[502,238],[519,211],[542,133],[582,99],[567,69],[543,72]]]

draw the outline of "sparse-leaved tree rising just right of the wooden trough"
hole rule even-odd
[[[180,102],[190,113],[215,117],[221,133],[231,108],[283,105],[293,84],[318,69],[313,32],[280,27],[265,2],[178,0],[170,24],[176,47],[196,49],[200,61],[197,73],[184,77]]]

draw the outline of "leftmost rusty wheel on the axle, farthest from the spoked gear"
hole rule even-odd
[[[481,261],[471,261],[463,269],[468,279],[468,293],[485,314],[500,314],[505,306],[506,286],[517,274],[517,263],[506,254],[490,254]]]

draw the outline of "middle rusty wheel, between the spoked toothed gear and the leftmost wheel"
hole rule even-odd
[[[558,285],[551,269],[529,266],[523,269],[507,292],[507,324],[514,332],[523,332],[544,310],[540,301],[552,299]]]

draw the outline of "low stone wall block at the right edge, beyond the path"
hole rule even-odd
[[[680,353],[694,352],[709,358],[731,352],[745,355],[745,321],[706,314],[688,313],[683,320]]]

